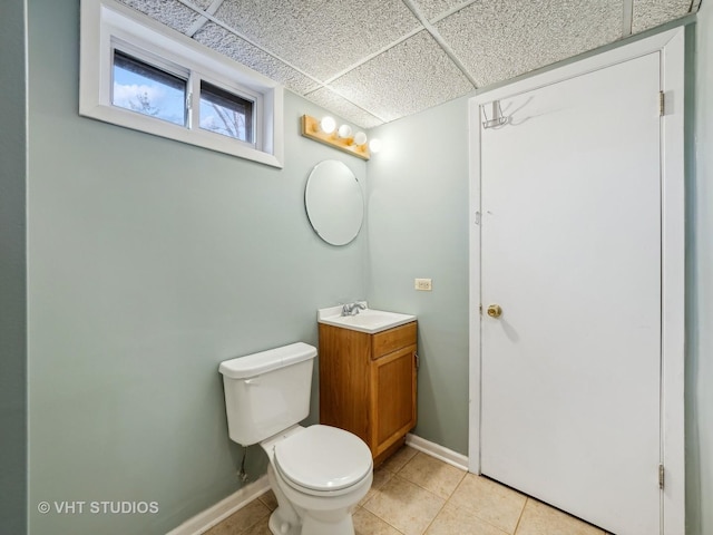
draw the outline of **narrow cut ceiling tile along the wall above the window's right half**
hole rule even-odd
[[[314,88],[314,81],[306,76],[213,22],[208,22],[201,28],[193,38],[238,64],[243,64],[280,84],[284,84],[300,95],[304,95]]]

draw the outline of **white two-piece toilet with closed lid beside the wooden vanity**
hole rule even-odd
[[[310,411],[315,357],[315,348],[299,342],[218,368],[231,439],[260,442],[270,457],[274,535],[354,535],[352,510],[371,487],[363,440],[335,427],[297,425]]]

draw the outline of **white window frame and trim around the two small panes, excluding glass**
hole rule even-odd
[[[186,72],[186,126],[111,104],[114,50],[168,74]],[[183,75],[182,75],[183,76]],[[253,143],[199,126],[201,80],[254,103]],[[283,87],[114,0],[82,0],[79,114],[106,123],[283,167]]]

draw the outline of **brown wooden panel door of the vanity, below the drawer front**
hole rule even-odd
[[[375,457],[416,426],[416,346],[372,361],[371,403]]]

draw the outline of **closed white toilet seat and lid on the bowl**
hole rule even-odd
[[[274,447],[274,465],[291,487],[311,495],[349,492],[371,474],[369,447],[355,435],[315,425]]]

